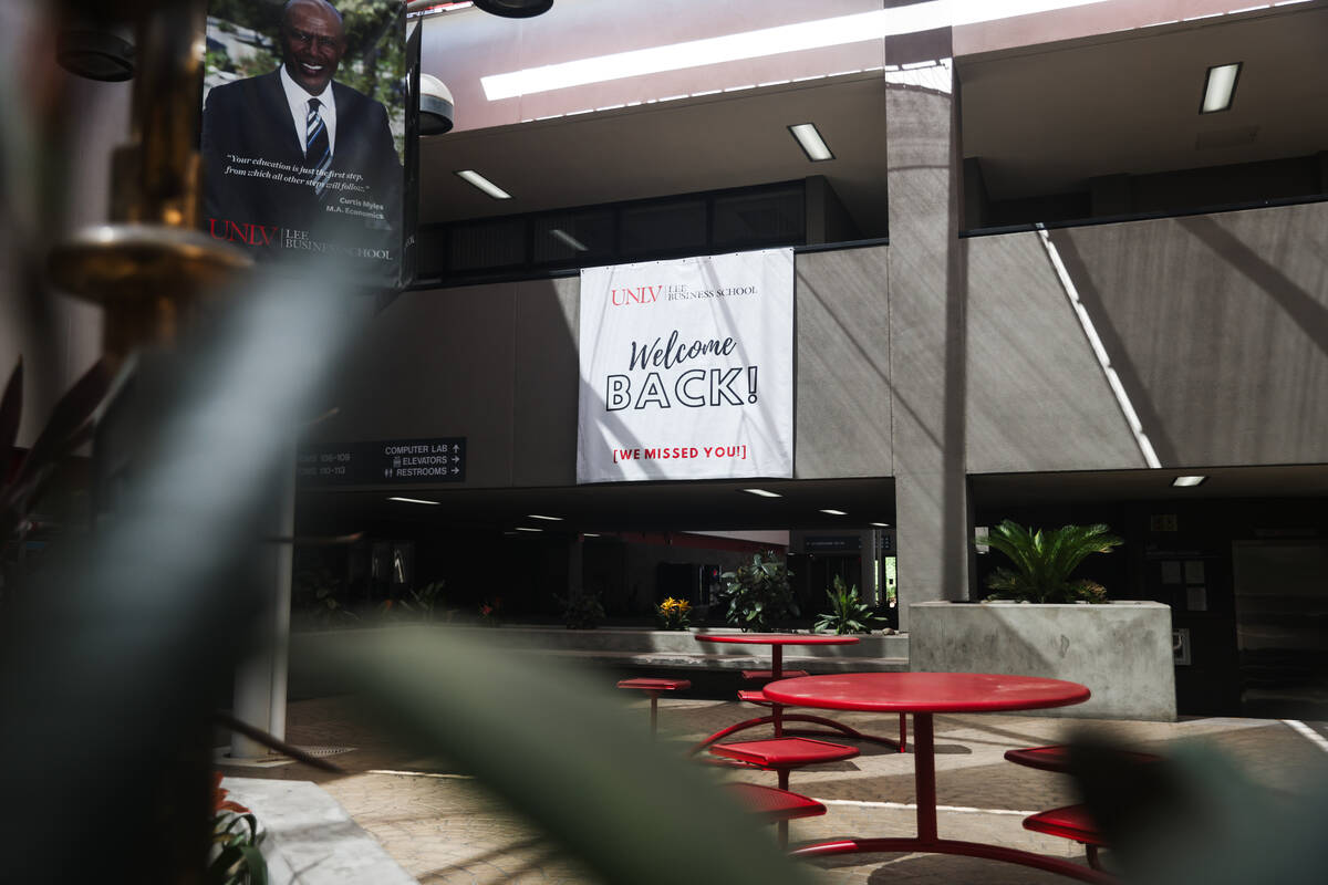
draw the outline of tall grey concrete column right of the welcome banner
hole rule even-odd
[[[890,370],[899,624],[908,604],[968,597],[964,464],[967,241],[950,29],[890,38]],[[918,66],[931,61],[931,66]]]

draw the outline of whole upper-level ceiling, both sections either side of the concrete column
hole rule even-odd
[[[1316,1],[960,57],[964,155],[981,158],[1001,200],[1328,150],[1325,46],[1328,4]],[[1234,107],[1201,115],[1207,68],[1232,61],[1244,62]],[[835,159],[807,162],[786,129],[799,122],[817,123]],[[485,196],[453,174],[462,169],[515,199]],[[886,86],[869,72],[429,138],[421,220],[825,175],[876,236],[886,169]]]

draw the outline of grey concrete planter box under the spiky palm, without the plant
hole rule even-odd
[[[1048,715],[1175,722],[1171,609],[1161,602],[918,602],[908,617],[910,670],[1069,679],[1093,697]]]

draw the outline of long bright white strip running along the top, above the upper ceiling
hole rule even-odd
[[[531,96],[570,86],[584,86],[627,77],[643,77],[668,70],[685,70],[700,65],[780,56],[788,52],[842,46],[851,42],[919,33],[951,25],[995,21],[1037,12],[1086,7],[1106,0],[931,0],[894,9],[875,9],[834,19],[798,21],[795,24],[722,37],[616,52],[608,56],[578,58],[556,65],[525,68],[503,74],[481,77],[489,101]]]

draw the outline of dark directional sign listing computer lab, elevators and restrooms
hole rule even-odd
[[[466,479],[466,438],[300,446],[301,486],[428,486]]]

